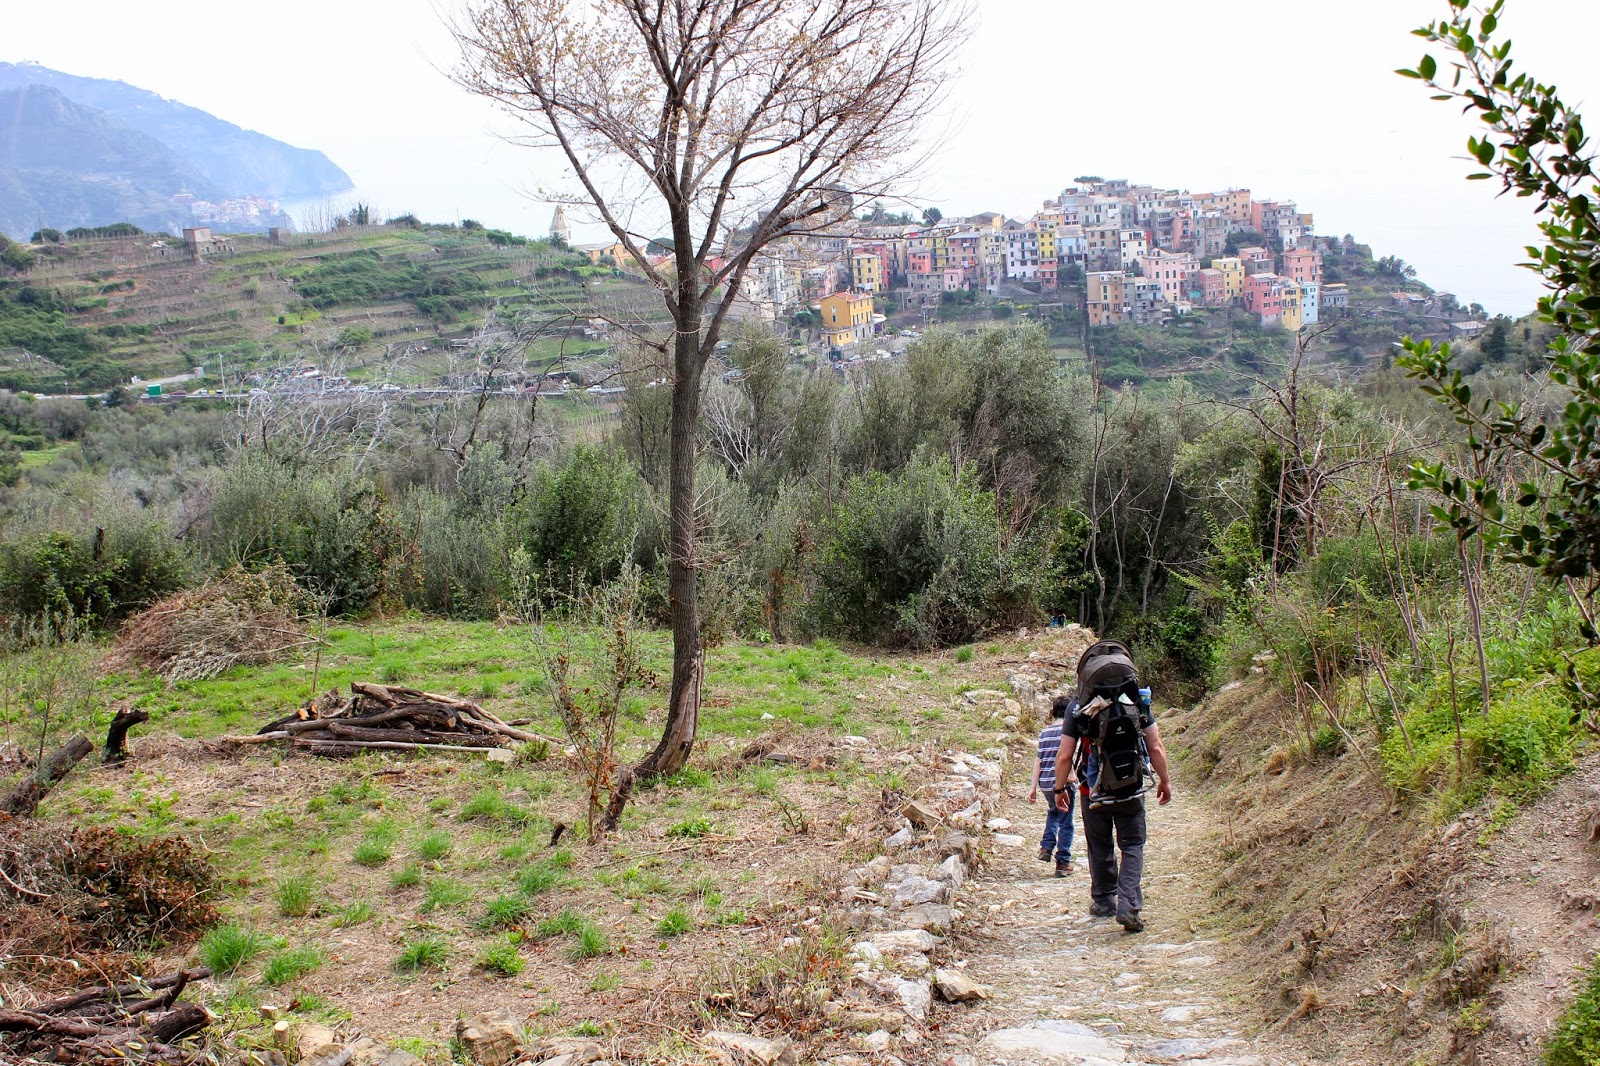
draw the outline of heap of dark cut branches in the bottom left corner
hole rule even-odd
[[[29,1010],[0,1008],[0,1061],[42,1055],[51,1063],[195,1063],[202,1052],[174,1044],[211,1021],[205,1007],[178,1004],[206,968],[120,986],[85,989]]]

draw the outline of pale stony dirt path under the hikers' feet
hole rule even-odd
[[[1128,935],[1088,916],[1088,869],[1077,824],[1077,872],[1040,863],[1043,808],[1013,784],[1000,815],[1021,847],[994,858],[962,893],[965,972],[992,997],[958,1013],[938,1037],[952,1066],[1035,1063],[1205,1063],[1312,1066],[1320,1060],[1254,1039],[1232,1007],[1240,988],[1230,949],[1210,917],[1205,863],[1208,810],[1179,794],[1150,808],[1144,917]],[[1077,821],[1077,815],[1074,815]]]

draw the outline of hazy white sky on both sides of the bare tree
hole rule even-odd
[[[526,190],[557,160],[507,146],[498,117],[442,74],[458,0],[51,0],[8,5],[0,59],[122,78],[325,150],[378,211],[477,218],[531,235]],[[1568,102],[1600,99],[1595,0],[1510,0],[1520,64]],[[979,0],[918,203],[1027,216],[1075,174],[1293,198],[1490,311],[1539,293],[1515,266],[1526,202],[1467,182],[1472,125],[1392,74],[1445,0]],[[1589,53],[1589,54],[1586,54]],[[1600,122],[1600,118],[1597,118]],[[578,238],[598,238],[578,232]]]

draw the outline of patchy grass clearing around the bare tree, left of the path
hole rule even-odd
[[[181,834],[210,853],[224,924],[147,962],[211,965],[221,976],[210,1005],[235,1047],[269,1040],[258,1008],[274,1002],[352,1018],[443,1064],[458,1015],[510,1005],[534,1032],[616,1037],[648,1061],[696,1061],[680,1034],[712,1015],[739,1024],[755,989],[848,976],[848,941],[821,917],[827,887],[878,850],[894,807],[885,797],[915,791],[907,752],[997,743],[1005,727],[960,693],[994,687],[1005,675],[997,658],[1018,653],[714,648],[694,759],[643,791],[621,831],[597,844],[560,747],[528,746],[504,765],[213,743],[253,733],[314,687],[352,680],[459,693],[560,736],[541,669],[552,639],[582,647],[586,637],[390,619],[331,629],[320,655],[301,661],[174,687],[98,674],[99,647],[45,651],[5,664],[0,727],[5,739],[34,743],[38,704],[16,696],[19,682],[45,675],[61,680],[53,739],[102,730],[117,699],[150,712],[126,767],[74,775],[40,816],[62,829]],[[622,759],[659,731],[669,648],[659,634],[646,647],[661,680],[624,707]]]

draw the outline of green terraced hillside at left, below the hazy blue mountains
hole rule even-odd
[[[0,279],[0,387],[99,391],[202,367],[218,381],[261,363],[323,362],[352,379],[421,381],[424,352],[448,347],[491,307],[565,317],[552,355],[605,349],[582,317],[650,291],[546,242],[498,230],[352,226],[285,243],[237,235],[198,256],[158,235],[43,245]],[[413,363],[418,363],[413,367]]]

